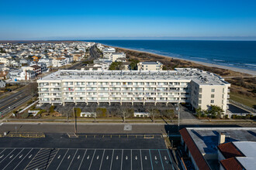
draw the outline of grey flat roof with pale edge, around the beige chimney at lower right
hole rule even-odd
[[[220,132],[226,136],[225,143],[256,141],[256,128],[187,128],[187,130],[202,154],[217,154],[216,146],[219,145]]]

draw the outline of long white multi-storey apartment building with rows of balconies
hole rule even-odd
[[[37,80],[40,104],[89,102],[190,103],[226,110],[230,83],[213,73],[179,68],[167,71],[59,70]]]

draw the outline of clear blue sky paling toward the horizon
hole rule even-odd
[[[255,0],[0,4],[0,39],[256,39]]]

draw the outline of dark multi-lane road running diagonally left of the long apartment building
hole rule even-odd
[[[19,107],[30,100],[33,96],[32,90],[37,90],[36,83],[29,83],[24,89],[12,93],[8,97],[2,98],[0,100],[0,112],[2,113],[2,116],[5,116],[5,114],[8,114],[16,107]]]

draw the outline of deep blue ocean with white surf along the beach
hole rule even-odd
[[[88,41],[88,40],[86,40]],[[256,41],[90,40],[164,56],[256,70]]]

